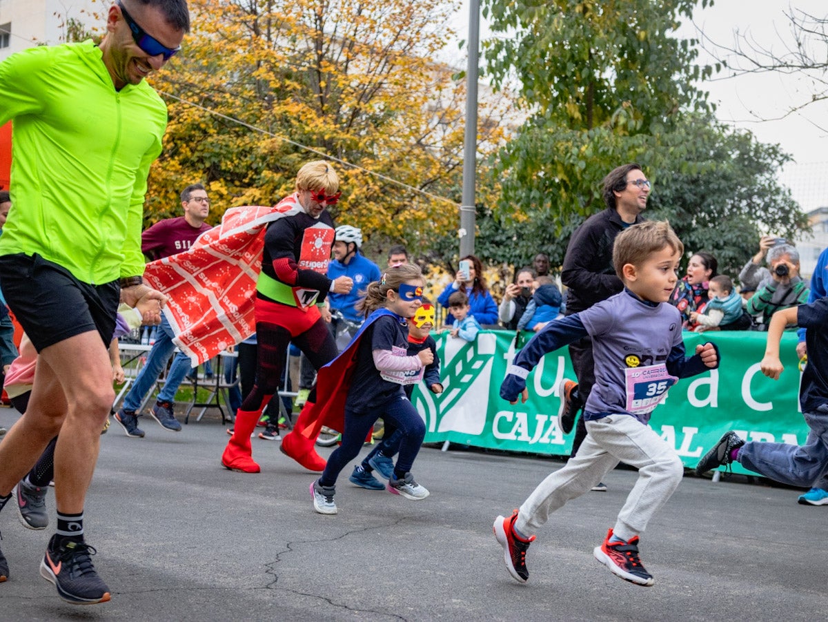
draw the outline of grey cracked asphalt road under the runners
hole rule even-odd
[[[0,426],[17,413],[0,409]],[[828,506],[797,490],[687,476],[642,538],[656,585],[610,574],[592,549],[614,523],[633,470],[606,493],[553,514],[518,584],[503,566],[493,518],[561,467],[554,459],[426,447],[423,501],[339,480],[339,514],[315,514],[314,475],[253,439],[262,473],[224,470],[217,418],[183,432],[141,420],[147,437],[103,436],[87,499],[87,541],[113,592],[65,604],[38,574],[51,529],[0,513],[10,578],[0,620],[824,620]],[[330,450],[322,450],[325,452]],[[368,451],[366,449],[366,451]],[[54,494],[47,503],[54,512]],[[54,520],[54,514],[51,515]]]

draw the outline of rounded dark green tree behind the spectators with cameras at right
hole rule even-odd
[[[647,216],[670,221],[686,257],[706,250],[721,273],[736,277],[756,252],[760,234],[793,239],[808,228],[790,190],[776,179],[790,160],[777,145],[712,115],[683,115],[676,131],[657,137],[652,150]]]

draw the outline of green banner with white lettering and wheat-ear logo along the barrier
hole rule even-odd
[[[719,369],[682,379],[652,412],[650,427],[676,448],[688,467],[728,430],[749,441],[800,444],[808,428],[799,409],[801,373],[797,368],[797,335],[782,337],[779,380],[759,369],[766,333],[685,333],[688,353],[713,341],[719,346]],[[506,451],[567,456],[574,432],[557,425],[562,378],[575,379],[566,348],[541,360],[527,378],[527,403],[510,404],[499,389],[515,355],[514,333],[484,330],[477,340],[436,335],[440,376],[445,391],[434,395],[419,384],[412,402],[426,421],[426,442],[453,441]],[[734,471],[749,473],[734,463]]]

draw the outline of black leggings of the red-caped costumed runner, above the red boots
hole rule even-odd
[[[247,412],[258,411],[267,406],[269,400],[279,390],[279,380],[285,368],[287,348],[291,343],[291,332],[284,326],[269,322],[256,323],[258,352],[256,357],[256,382],[253,389],[245,396],[241,409]],[[321,318],[301,335],[292,338],[293,344],[305,353],[315,369],[330,363],[336,358],[336,342],[330,336],[326,322]],[[310,392],[308,401],[316,401],[316,389]]]

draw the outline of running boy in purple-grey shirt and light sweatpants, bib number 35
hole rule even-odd
[[[638,481],[595,558],[615,575],[640,586],[654,580],[638,557],[638,538],[652,515],[681,482],[684,468],[674,447],[647,427],[650,414],[680,378],[718,367],[715,345],[686,357],[681,316],[669,304],[684,245],[667,222],[649,221],[615,239],[613,265],[624,290],[585,311],[551,321],[532,337],[508,368],[502,398],[525,403],[528,374],[543,355],[589,335],[595,350],[595,387],[584,410],[587,436],[578,453],[552,473],[512,516],[498,516],[494,535],[509,573],[529,576],[526,552],[532,533],[570,499],[599,483],[620,461],[638,468]]]

